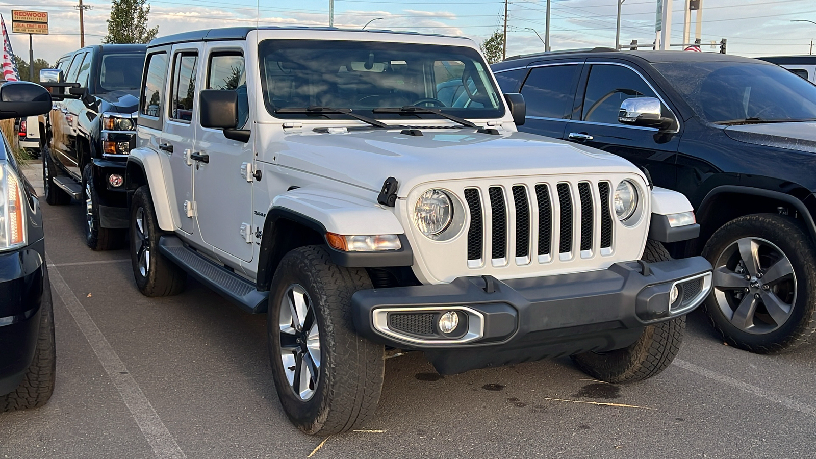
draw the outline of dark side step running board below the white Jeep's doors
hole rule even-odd
[[[162,236],[159,251],[207,287],[219,292],[250,314],[266,312],[268,292],[258,292],[255,284],[218,265],[193,249],[184,247],[181,239],[172,235]]]

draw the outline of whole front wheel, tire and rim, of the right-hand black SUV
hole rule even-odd
[[[814,244],[794,218],[743,216],[708,240],[714,268],[704,309],[725,341],[775,353],[804,344],[816,331]]]

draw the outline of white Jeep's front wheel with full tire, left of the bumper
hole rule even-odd
[[[374,416],[384,346],[354,332],[351,297],[371,288],[365,270],[332,263],[326,248],[297,248],[273,278],[268,350],[286,416],[307,434],[335,434]]]

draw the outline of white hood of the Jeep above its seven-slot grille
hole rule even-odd
[[[627,160],[598,149],[523,132],[426,129],[423,136],[370,130],[293,133],[274,145],[277,163],[379,191],[389,176],[400,197],[420,183],[462,178],[625,172]],[[325,166],[324,166],[325,165]]]

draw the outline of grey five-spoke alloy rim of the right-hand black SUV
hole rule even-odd
[[[714,265],[713,293],[730,323],[752,334],[773,332],[796,304],[796,274],[787,256],[763,238],[740,238]]]

